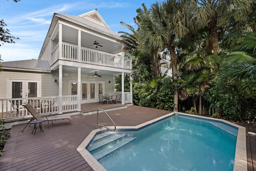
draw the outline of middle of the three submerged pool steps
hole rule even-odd
[[[98,139],[97,141],[93,141],[92,143],[90,143],[89,147],[87,148],[87,150],[89,152],[94,151],[100,147],[103,147],[104,145],[108,145],[109,143],[112,143],[122,137],[125,137],[126,134],[111,134],[108,135],[106,137],[103,137],[101,139]]]

